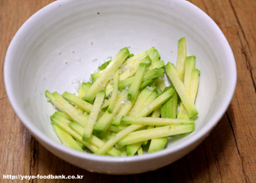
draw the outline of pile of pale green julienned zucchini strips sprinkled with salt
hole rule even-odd
[[[64,145],[78,151],[107,156],[160,151],[169,136],[194,131],[199,73],[195,56],[187,56],[185,37],[178,43],[176,67],[165,65],[154,47],[137,55],[123,48],[77,94],[45,91],[59,110],[50,117],[52,127]],[[166,87],[165,74],[173,85]]]

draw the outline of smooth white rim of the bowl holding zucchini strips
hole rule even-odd
[[[207,126],[204,126],[202,129],[200,129],[195,135],[193,135],[190,139],[186,140],[185,142],[182,142],[181,144],[175,145],[174,149],[171,148],[166,148],[161,151],[155,152],[155,153],[150,153],[150,154],[144,154],[143,156],[131,156],[131,157],[110,157],[110,156],[100,156],[100,155],[94,155],[91,153],[86,153],[86,152],[79,152],[76,150],[73,150],[71,148],[65,147],[64,145],[52,140],[48,136],[44,135],[35,125],[30,122],[30,120],[22,114],[22,109],[16,105],[15,96],[14,92],[12,90],[12,87],[8,85],[10,80],[10,58],[12,55],[12,50],[13,47],[15,47],[16,43],[18,42],[19,36],[26,30],[26,27],[29,25],[31,21],[34,19],[37,19],[40,16],[43,16],[43,14],[47,13],[47,11],[54,10],[54,8],[57,8],[59,4],[65,4],[65,3],[72,3],[75,0],[61,0],[61,1],[53,1],[50,4],[42,7],[39,9],[37,12],[35,12],[32,16],[30,16],[18,29],[18,31],[15,33],[13,36],[8,49],[6,51],[5,59],[4,59],[4,84],[5,84],[5,90],[6,94],[8,96],[9,102],[15,112],[15,114],[18,116],[20,121],[23,123],[23,125],[29,130],[29,132],[35,137],[38,141],[42,141],[44,144],[49,145],[51,148],[56,149],[57,151],[60,151],[62,153],[67,153],[71,156],[75,156],[77,158],[82,158],[82,159],[87,159],[90,161],[96,161],[96,162],[112,162],[112,163],[120,163],[120,162],[138,162],[138,161],[146,161],[149,159],[157,159],[162,156],[167,156],[169,154],[181,151],[187,147],[189,147],[192,144],[195,144],[199,142],[201,139],[205,139],[210,132],[213,130],[213,128],[218,124],[222,116],[225,114],[227,111],[231,100],[233,98],[233,95],[235,93],[235,88],[236,88],[236,83],[237,83],[237,68],[236,68],[236,61],[235,57],[233,54],[233,51],[230,47],[230,44],[219,28],[219,26],[214,22],[214,20],[207,14],[205,13],[202,9],[194,5],[193,3],[185,0],[176,0],[176,2],[181,3],[183,5],[189,6],[190,8],[193,8],[195,11],[200,13],[202,16],[205,16],[208,21],[211,22],[211,24],[215,27],[216,31],[219,32],[219,35],[222,37],[223,44],[225,44],[225,49],[227,50],[227,54],[229,57],[230,63],[233,63],[231,65],[231,70],[233,71],[233,77],[231,77],[231,82],[230,82],[230,90],[227,92],[229,95],[225,97],[223,100],[222,104],[220,105],[220,108],[218,109],[218,113],[216,116],[214,116],[209,122]],[[165,0],[165,1],[171,1],[171,0]],[[198,144],[199,145],[199,144]],[[49,149],[48,149],[49,150]],[[50,151],[50,150],[49,150]]]

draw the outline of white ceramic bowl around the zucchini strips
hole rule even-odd
[[[99,63],[128,46],[152,46],[176,64],[178,40],[201,70],[195,132],[169,141],[162,151],[134,157],[82,153],[60,144],[50,126],[55,111],[44,91],[75,92]],[[57,0],[32,15],[6,53],[4,82],[9,101],[32,135],[61,159],[91,172],[134,174],[164,167],[197,147],[227,110],[236,86],[236,63],[216,23],[186,0]]]

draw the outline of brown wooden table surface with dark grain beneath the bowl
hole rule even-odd
[[[256,183],[256,0],[190,0],[215,20],[233,49],[235,95],[217,127],[194,151],[157,171],[128,176],[90,173],[55,157],[24,128],[9,104],[3,83],[9,42],[29,16],[52,1],[0,0],[0,183],[11,182],[3,175],[18,174],[78,174],[83,175],[78,182],[84,183]]]

